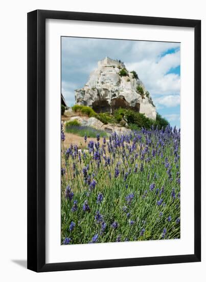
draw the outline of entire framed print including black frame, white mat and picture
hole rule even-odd
[[[28,13],[28,269],[200,261],[200,38],[196,19]]]

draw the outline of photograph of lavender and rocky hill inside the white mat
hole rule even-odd
[[[60,94],[61,244],[180,239],[180,43],[62,36]]]

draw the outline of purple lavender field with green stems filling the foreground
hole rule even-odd
[[[64,139],[61,244],[180,238],[180,130]]]

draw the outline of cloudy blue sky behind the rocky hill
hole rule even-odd
[[[180,43],[61,37],[61,91],[68,106],[106,56],[136,71],[156,111],[180,127]]]

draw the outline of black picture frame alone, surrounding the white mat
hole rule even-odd
[[[45,19],[192,27],[194,63],[194,253],[186,255],[45,263]],[[36,272],[155,264],[201,259],[201,21],[118,14],[35,10],[28,13],[28,269]]]

